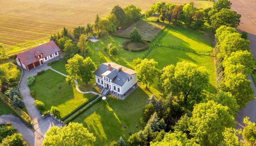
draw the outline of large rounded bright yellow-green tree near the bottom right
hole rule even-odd
[[[188,129],[200,145],[217,146],[224,137],[226,127],[235,126],[234,117],[228,107],[214,101],[197,104],[192,112]]]

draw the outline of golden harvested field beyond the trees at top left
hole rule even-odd
[[[114,5],[128,4],[142,8],[144,12],[159,0],[1,0],[0,45],[8,55],[31,49],[39,43],[49,41],[49,37],[61,28],[74,28],[93,23],[95,15],[105,17]],[[193,1],[195,7],[211,7],[207,0],[166,0],[174,4]]]

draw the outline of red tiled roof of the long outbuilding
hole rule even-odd
[[[36,56],[38,53],[42,53],[42,56],[46,57],[57,51],[60,51],[59,47],[56,45],[56,43],[50,41],[22,53],[16,54],[16,56],[23,62],[25,66],[27,66],[33,62],[39,61],[39,58]]]

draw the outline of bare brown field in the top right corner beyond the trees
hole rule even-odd
[[[242,15],[238,30],[248,32],[252,54],[256,58],[256,0],[230,1],[232,3],[231,9]]]

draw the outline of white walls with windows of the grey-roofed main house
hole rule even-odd
[[[116,93],[117,95],[124,95],[129,89],[133,87],[133,85],[137,82],[137,74],[132,74],[129,79],[124,83],[123,86],[114,84],[111,82],[109,78],[106,76],[99,77],[95,75],[96,83],[102,88],[108,88],[110,91]]]

